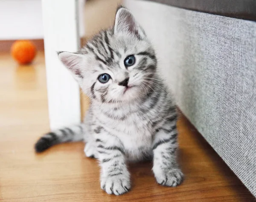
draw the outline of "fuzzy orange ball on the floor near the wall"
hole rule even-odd
[[[28,64],[36,55],[35,45],[29,40],[17,40],[12,44],[12,57],[20,64]]]

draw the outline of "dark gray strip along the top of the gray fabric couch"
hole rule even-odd
[[[148,0],[183,9],[256,21],[256,0]]]

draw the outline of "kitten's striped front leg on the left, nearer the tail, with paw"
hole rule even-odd
[[[131,189],[130,173],[125,163],[123,145],[119,139],[97,127],[96,148],[101,166],[101,188],[108,194],[120,195]]]

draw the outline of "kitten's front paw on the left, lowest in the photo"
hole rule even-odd
[[[121,195],[131,189],[130,178],[124,175],[102,178],[100,186],[108,194]]]

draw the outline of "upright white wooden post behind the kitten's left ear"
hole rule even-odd
[[[79,85],[58,60],[57,51],[80,46],[78,0],[42,0],[44,49],[51,130],[81,121]]]

